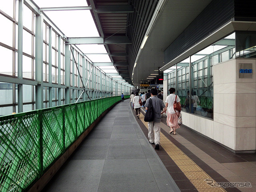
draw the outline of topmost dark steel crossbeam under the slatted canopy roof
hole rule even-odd
[[[96,13],[133,13],[134,9],[131,5],[110,5],[97,6]]]

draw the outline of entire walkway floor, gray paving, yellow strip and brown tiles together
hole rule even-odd
[[[256,154],[234,154],[185,126],[169,134],[165,117],[155,150],[143,108],[135,117],[129,100],[118,103],[43,191],[256,191]]]

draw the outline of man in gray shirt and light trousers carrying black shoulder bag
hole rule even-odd
[[[164,102],[156,96],[157,90],[155,88],[150,90],[150,95],[151,97],[147,100],[145,106],[146,110],[148,110],[149,102],[150,100],[152,101],[152,107],[154,109],[154,120],[148,122],[148,139],[151,144],[156,144],[155,149],[159,149],[161,114],[166,111],[166,107]],[[161,113],[163,108],[164,110]]]

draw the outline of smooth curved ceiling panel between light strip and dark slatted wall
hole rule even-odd
[[[137,60],[135,86],[164,66],[164,50],[204,10],[211,0],[168,0]]]

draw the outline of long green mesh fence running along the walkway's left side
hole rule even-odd
[[[126,96],[128,98],[128,96]],[[0,191],[28,190],[121,96],[0,117]]]

